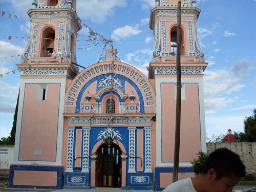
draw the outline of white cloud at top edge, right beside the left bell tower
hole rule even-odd
[[[82,19],[102,24],[106,18],[115,14],[116,7],[125,6],[126,0],[92,0],[87,3],[77,1],[76,11]]]

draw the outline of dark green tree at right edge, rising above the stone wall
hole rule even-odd
[[[244,132],[248,142],[256,141],[256,109],[252,111],[253,114],[244,119]]]

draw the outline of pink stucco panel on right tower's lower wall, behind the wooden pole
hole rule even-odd
[[[181,100],[180,162],[189,162],[201,150],[197,83],[185,83],[186,99]],[[174,161],[176,100],[174,83],[161,84],[162,161]]]

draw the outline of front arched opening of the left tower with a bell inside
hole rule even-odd
[[[41,36],[41,51],[40,57],[51,57],[54,52],[54,42],[55,42],[55,30],[51,27],[46,28],[42,32]]]

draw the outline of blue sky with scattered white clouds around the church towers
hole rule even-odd
[[[1,12],[6,12],[0,15],[0,138],[9,136],[12,129],[20,84],[17,55],[27,46],[30,18],[26,11],[32,2],[0,0]],[[154,0],[77,0],[76,11],[82,23],[112,38],[122,62],[147,76],[154,49],[153,31],[148,27],[154,6]],[[256,0],[197,0],[196,6],[201,9],[198,38],[209,63],[204,71],[206,137],[226,134],[228,129],[243,132],[245,117],[256,108]],[[104,45],[88,48],[82,41],[88,35],[86,27],[78,34],[77,63],[91,66],[98,62]]]

